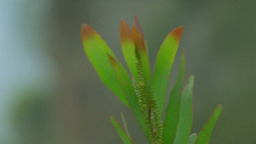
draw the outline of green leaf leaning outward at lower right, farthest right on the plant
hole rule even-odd
[[[216,125],[218,117],[221,115],[222,109],[223,106],[218,105],[217,108],[214,110],[207,124],[205,124],[203,130],[201,130],[201,132],[199,133],[196,144],[207,144],[210,142],[212,131],[214,130],[214,126]]]

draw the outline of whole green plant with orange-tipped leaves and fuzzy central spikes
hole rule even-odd
[[[164,113],[169,77],[182,31],[183,27],[178,27],[167,35],[160,46],[154,72],[151,74],[147,44],[137,16],[134,16],[132,31],[126,21],[121,20],[121,46],[126,64],[132,74],[130,78],[122,63],[116,59],[100,35],[89,25],[82,25],[83,46],[89,61],[102,82],[132,110],[150,144],[209,143],[216,121],[221,114],[222,106],[220,105],[199,135],[190,135],[193,122],[192,95],[195,76],[190,76],[182,91],[185,74],[184,50],[182,50],[180,72]],[[124,115],[122,119],[125,131],[111,116],[111,122],[123,143],[133,143],[128,134]]]

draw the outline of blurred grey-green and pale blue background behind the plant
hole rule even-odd
[[[184,26],[186,80],[195,74],[193,130],[218,104],[211,143],[256,143],[256,1],[1,1],[0,143],[121,143],[109,121],[124,112],[132,138],[146,143],[132,113],[105,87],[81,44],[94,27],[124,63],[119,20],[137,14],[151,66],[169,31]]]

